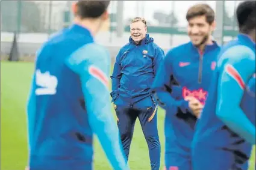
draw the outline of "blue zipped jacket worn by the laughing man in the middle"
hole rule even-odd
[[[163,50],[146,34],[140,44],[129,43],[123,46],[114,64],[111,97],[113,102],[121,97],[125,105],[151,95],[150,88],[164,56]]]

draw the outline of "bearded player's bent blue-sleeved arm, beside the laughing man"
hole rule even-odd
[[[172,51],[168,52],[161,62],[161,66],[157,70],[157,76],[155,76],[154,83],[152,85],[152,93],[157,100],[158,105],[164,109],[168,109],[172,106],[177,106],[184,113],[189,109],[189,103],[185,100],[175,100],[172,93],[179,90],[170,87],[170,77],[172,75]]]

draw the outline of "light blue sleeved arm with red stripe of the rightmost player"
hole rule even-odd
[[[233,132],[255,144],[255,126],[240,108],[245,83],[255,72],[254,53],[245,47],[236,47],[222,58],[229,60],[220,71],[216,115]]]

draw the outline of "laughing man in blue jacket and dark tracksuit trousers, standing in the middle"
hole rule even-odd
[[[157,105],[150,88],[164,56],[163,50],[146,34],[146,21],[131,21],[129,43],[120,49],[111,76],[114,107],[126,157],[137,117],[148,143],[151,169],[160,167],[160,142],[157,130]]]

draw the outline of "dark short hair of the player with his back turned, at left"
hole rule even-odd
[[[100,17],[108,8],[110,1],[78,1],[76,15],[81,19]]]

